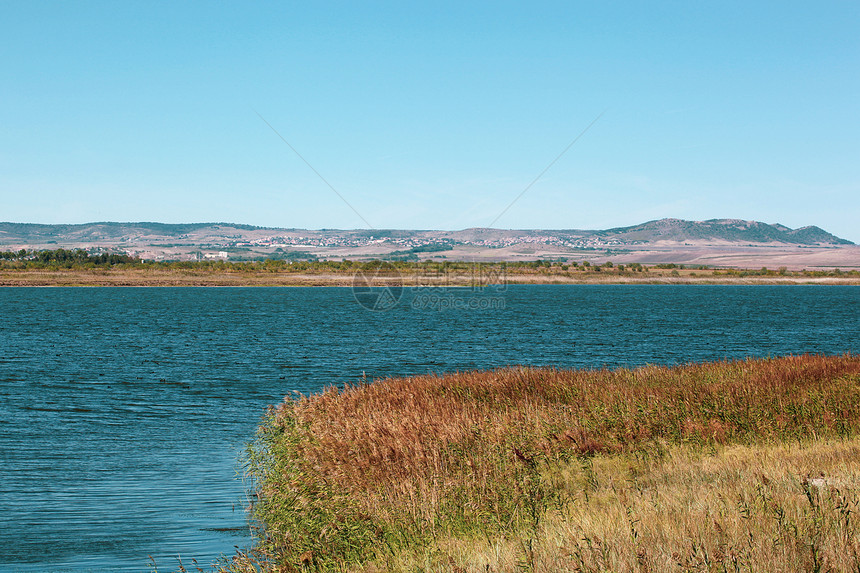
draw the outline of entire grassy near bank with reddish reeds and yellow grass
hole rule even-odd
[[[510,368],[290,399],[252,571],[856,571],[860,357]]]

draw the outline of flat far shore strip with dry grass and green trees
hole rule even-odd
[[[860,270],[737,269],[675,263],[589,261],[142,261],[82,249],[0,252],[0,286],[348,285],[356,273],[420,286],[498,283],[814,283],[860,284]]]

